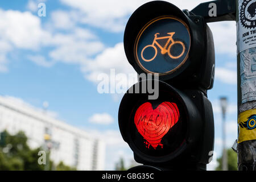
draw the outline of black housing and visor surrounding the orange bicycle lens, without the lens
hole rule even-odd
[[[188,59],[175,72],[160,74],[159,80],[170,82],[178,87],[211,89],[214,81],[214,44],[210,28],[202,16],[189,11],[181,11],[175,5],[165,1],[152,1],[139,7],[126,24],[124,46],[127,60],[137,73],[147,73],[143,70],[134,55],[134,46],[139,32],[143,27],[160,16],[174,16],[182,20],[189,29],[191,36]],[[182,81],[184,84],[180,84]]]

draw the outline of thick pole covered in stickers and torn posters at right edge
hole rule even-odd
[[[255,0],[236,0],[238,169],[256,170]]]

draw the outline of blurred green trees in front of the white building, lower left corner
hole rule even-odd
[[[42,171],[46,167],[38,163],[38,152],[42,150],[42,147],[31,149],[27,144],[27,137],[22,131],[15,135],[3,131],[0,134],[0,170]],[[53,169],[59,171],[76,170],[76,168],[66,166],[63,162],[55,166],[50,160],[49,170]]]

